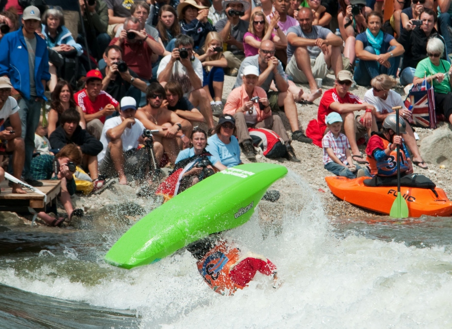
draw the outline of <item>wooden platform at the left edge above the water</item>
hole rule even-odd
[[[23,190],[27,194],[12,193],[12,188],[8,186],[8,181],[2,181],[0,187],[5,190],[0,193],[0,211],[20,211],[28,207],[36,211],[44,211],[46,205],[55,202],[55,198],[60,194],[61,182],[59,180],[41,181],[44,185],[38,187],[38,189],[47,195],[47,202],[44,202],[43,195],[30,191],[25,187]]]

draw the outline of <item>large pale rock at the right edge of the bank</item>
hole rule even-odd
[[[452,168],[452,131],[435,130],[425,137],[419,148],[425,162]]]

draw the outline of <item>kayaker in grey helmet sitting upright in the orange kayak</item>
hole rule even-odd
[[[435,188],[435,184],[424,175],[413,174],[410,154],[402,137],[396,135],[396,116],[388,115],[380,132],[372,132],[367,144],[367,163],[371,179],[365,179],[366,186],[397,186],[397,153],[400,146],[400,185],[408,187]],[[399,116],[399,132],[406,134],[406,123]]]

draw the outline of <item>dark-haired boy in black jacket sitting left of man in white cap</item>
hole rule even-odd
[[[91,136],[79,125],[80,113],[74,108],[65,110],[59,119],[60,126],[49,136],[53,149],[62,149],[74,144],[82,152],[85,168],[88,168],[92,180],[97,179],[97,154],[102,151],[102,143]]]

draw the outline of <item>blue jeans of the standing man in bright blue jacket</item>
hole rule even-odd
[[[22,122],[22,135],[25,141],[25,164],[22,176],[24,179],[31,178],[31,159],[34,151],[34,131],[38,127],[41,115],[41,101],[35,101],[36,96],[31,96],[30,100],[21,98],[19,100],[19,117]]]

